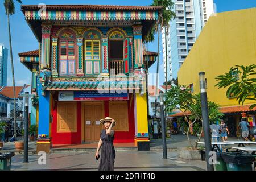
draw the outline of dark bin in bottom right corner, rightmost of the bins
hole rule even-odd
[[[222,154],[228,171],[253,171],[252,164],[255,160],[251,154],[227,152]]]

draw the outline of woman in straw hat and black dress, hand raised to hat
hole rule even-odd
[[[99,171],[113,171],[115,160],[115,148],[113,145],[115,121],[112,118],[106,117],[100,120],[104,125],[105,130],[101,130],[100,141],[98,142],[98,148],[95,154],[95,158],[99,158],[99,150],[101,148],[101,160],[98,166]],[[102,147],[101,147],[102,146]]]

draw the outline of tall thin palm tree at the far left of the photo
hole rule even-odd
[[[22,4],[21,0],[16,0]],[[14,98],[14,140],[16,138],[16,93],[15,93],[15,79],[14,79],[14,67],[13,67],[13,48],[11,47],[11,29],[10,29],[10,15],[15,13],[15,3],[13,0],[5,0],[3,3],[5,6],[6,15],[8,18],[8,30],[9,30],[9,44],[10,44],[10,57],[11,57],[11,72],[13,76],[13,98]]]

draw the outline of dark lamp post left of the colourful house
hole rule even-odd
[[[24,110],[24,159],[23,162],[28,162],[28,92],[25,92],[25,110]]]

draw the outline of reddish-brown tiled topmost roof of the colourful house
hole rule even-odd
[[[22,5],[22,11],[39,10],[38,5]],[[46,5],[47,10],[160,10],[162,6],[115,6],[115,5]]]

